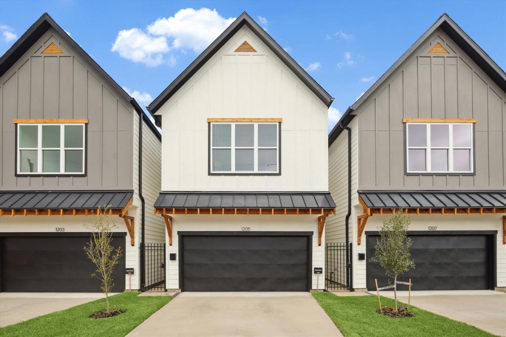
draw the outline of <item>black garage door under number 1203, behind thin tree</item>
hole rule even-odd
[[[118,292],[123,291],[125,285],[125,234],[114,235],[113,245],[121,246],[123,251],[113,275],[115,285],[112,291]],[[61,233],[58,236],[30,233],[30,236],[0,237],[0,289],[14,292],[101,292],[100,281],[90,276],[95,271],[94,264],[83,250],[89,240],[89,233]]]

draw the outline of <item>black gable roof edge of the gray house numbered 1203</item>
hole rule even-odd
[[[61,35],[65,43],[68,44],[68,46],[72,47],[80,57],[85,59],[92,68],[98,72],[102,77],[105,79],[105,81],[110,85],[112,88],[115,88],[116,91],[119,93],[123,99],[130,102],[134,109],[137,111],[137,113],[142,114],[143,120],[146,122],[150,130],[153,132],[153,134],[161,140],[161,134],[156,129],[156,127],[153,125],[147,114],[142,110],[139,103],[131,97],[128,93],[126,93],[123,88],[121,88],[118,83],[112,77],[105,72],[102,67],[95,62],[94,59],[91,58],[90,55],[88,55],[85,50],[83,50],[72,37],[70,37],[69,34],[67,34],[62,27],[60,27],[55,20],[48,14],[44,13],[40,16],[40,18],[35,21],[30,28],[12,45],[9,50],[0,57],[0,76],[4,75],[7,70],[9,70],[14,63],[16,63],[17,60],[19,60],[20,57],[22,57],[28,49],[30,49],[31,46],[42,36],[44,33],[46,33],[50,28],[53,28],[57,31],[58,34]]]

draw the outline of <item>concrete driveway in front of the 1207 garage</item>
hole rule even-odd
[[[382,296],[394,298],[393,291]],[[408,292],[398,291],[407,303]],[[506,293],[492,290],[411,291],[411,305],[441,316],[474,325],[500,336],[506,335]]]

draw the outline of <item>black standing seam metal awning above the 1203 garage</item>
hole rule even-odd
[[[122,209],[133,195],[123,190],[5,191],[0,192],[0,209]]]

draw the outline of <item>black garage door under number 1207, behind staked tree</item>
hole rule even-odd
[[[412,290],[467,290],[493,288],[493,236],[490,234],[456,235],[455,232],[408,232],[412,240],[411,257],[415,269],[400,280],[411,278]],[[368,233],[366,233],[367,235]],[[388,285],[383,268],[371,261],[377,235],[367,235],[367,289]],[[407,287],[401,285],[401,290]]]

